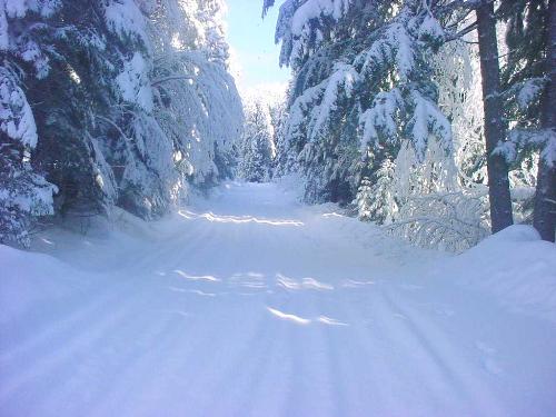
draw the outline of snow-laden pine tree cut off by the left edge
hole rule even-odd
[[[30,244],[37,217],[53,212],[56,187],[32,168],[37,123],[24,88],[30,77],[43,78],[48,58],[37,21],[56,11],[56,1],[0,1],[0,242]],[[28,79],[28,78],[27,78]]]

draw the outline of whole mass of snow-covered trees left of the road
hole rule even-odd
[[[242,110],[220,0],[0,0],[0,240],[143,218],[229,176]]]

